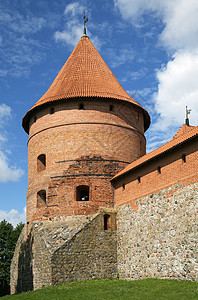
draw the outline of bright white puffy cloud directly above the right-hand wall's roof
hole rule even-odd
[[[159,81],[155,96],[160,114],[155,127],[167,130],[181,125],[185,119],[186,105],[192,109],[191,124],[198,120],[198,51],[176,53],[167,66],[157,72]]]

